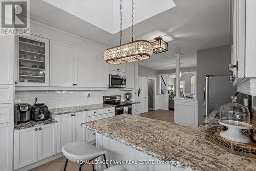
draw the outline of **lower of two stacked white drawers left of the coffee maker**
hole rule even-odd
[[[13,104],[0,104],[0,123],[13,122]]]

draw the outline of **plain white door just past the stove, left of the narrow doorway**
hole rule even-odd
[[[147,112],[147,79],[146,77],[139,77],[139,87],[141,90],[138,100],[140,102],[140,113]]]

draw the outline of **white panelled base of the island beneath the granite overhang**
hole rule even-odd
[[[117,142],[111,138],[103,136],[101,134],[96,134],[96,146],[105,149],[108,153],[106,154],[106,160],[109,161],[109,166],[115,164],[110,163],[110,161],[129,161],[136,162],[136,164],[121,164],[123,167],[130,171],[181,171],[190,170],[188,168],[177,168],[172,164],[157,164],[160,160],[149,156],[137,149]],[[103,161],[103,157],[99,157],[98,160]],[[154,162],[154,164],[139,164],[139,162]],[[178,166],[178,165],[177,165]],[[178,166],[179,167],[179,166]],[[105,169],[105,165],[97,164],[97,170],[102,171]]]

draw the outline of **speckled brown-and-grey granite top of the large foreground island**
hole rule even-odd
[[[162,161],[179,161],[176,167],[189,170],[255,170],[255,158],[234,155],[207,141],[204,130],[218,123],[209,117],[198,128],[136,117],[118,115],[82,126],[137,149]],[[206,126],[205,126],[206,125]]]

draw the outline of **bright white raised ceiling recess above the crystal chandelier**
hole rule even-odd
[[[43,0],[105,31],[120,31],[120,0]],[[146,8],[145,8],[146,7]],[[173,0],[139,0],[134,3],[134,24],[175,7]],[[122,1],[122,29],[132,26],[132,1]]]

